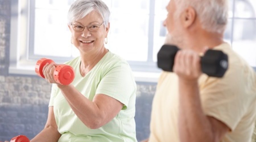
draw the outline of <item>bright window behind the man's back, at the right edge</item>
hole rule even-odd
[[[233,1],[232,47],[256,67],[256,1]]]

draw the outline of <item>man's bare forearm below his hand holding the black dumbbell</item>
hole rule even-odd
[[[197,81],[179,80],[179,137],[181,142],[212,142],[212,126],[204,114]]]

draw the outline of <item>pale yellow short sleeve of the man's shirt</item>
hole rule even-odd
[[[248,102],[243,97],[243,85],[232,78],[208,77],[200,93],[205,114],[223,122],[233,131],[247,111]]]

